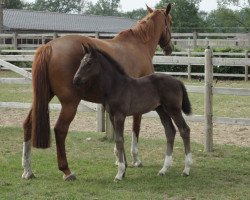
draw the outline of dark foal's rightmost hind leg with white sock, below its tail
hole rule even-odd
[[[184,120],[181,111],[177,111],[171,114],[171,117],[180,131],[180,135],[182,137],[184,148],[185,148],[185,168],[182,172],[182,175],[188,176],[191,165],[192,165],[192,153],[191,153],[191,146],[190,146],[190,128],[186,124],[186,121]]]

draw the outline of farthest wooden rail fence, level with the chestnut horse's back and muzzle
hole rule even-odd
[[[0,34],[2,44],[0,48],[14,49],[36,49],[39,45],[45,44],[50,40],[65,35],[84,35],[89,37],[113,38],[116,33],[12,33]],[[250,47],[250,33],[172,33],[173,44],[179,48],[200,47]]]

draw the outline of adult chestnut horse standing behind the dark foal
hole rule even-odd
[[[152,58],[158,44],[165,55],[171,54],[171,16],[169,14],[171,4],[168,4],[166,9],[152,10],[149,7],[147,9],[148,15],[135,27],[122,31],[113,39],[100,40],[71,35],[54,39],[37,50],[32,65],[32,107],[23,124],[22,178],[29,179],[34,176],[31,169],[31,145],[36,148],[50,146],[48,103],[57,96],[62,105],[54,127],[58,168],[63,172],[64,180],[75,179],[75,175],[68,167],[65,152],[65,139],[69,125],[75,117],[81,100],[102,102],[102,91],[95,82],[89,82],[80,89],[73,85],[73,77],[84,56],[82,44],[89,44],[106,52],[131,77],[142,77],[154,72]],[[131,154],[134,166],[140,166],[137,142],[141,115],[134,115],[133,120]]]

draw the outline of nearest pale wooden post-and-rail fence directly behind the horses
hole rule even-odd
[[[22,61],[31,61],[32,56],[30,55],[21,55],[19,56]],[[18,74],[21,74],[25,77],[26,80],[31,80],[31,74],[30,72],[21,69],[13,64],[10,64],[8,61],[19,61],[14,56],[0,56],[0,65],[4,66],[7,69],[10,69]],[[205,114],[204,116],[191,116],[186,117],[190,121],[198,121],[198,122],[204,122],[205,123],[205,131],[206,131],[206,143],[205,143],[205,150],[211,151],[213,148],[213,139],[212,139],[212,130],[213,130],[213,123],[223,123],[223,124],[240,124],[240,125],[248,125],[250,126],[250,119],[244,119],[244,118],[226,118],[226,117],[215,117],[213,116],[213,110],[212,110],[212,98],[213,94],[227,94],[227,95],[243,95],[243,96],[250,96],[250,90],[249,89],[231,89],[231,88],[218,88],[213,87],[213,65],[224,65],[224,66],[248,66],[250,64],[249,58],[215,58],[212,57],[211,50],[205,51],[205,57],[177,57],[177,56],[155,56],[153,59],[154,64],[181,64],[181,65],[205,65],[205,86],[204,87],[198,87],[198,86],[186,86],[188,92],[195,92],[195,93],[204,93],[205,95]],[[12,79],[13,80],[13,79]],[[0,81],[0,83],[5,83],[5,81]],[[14,105],[13,105],[14,104]],[[100,108],[97,108],[96,105],[88,104],[87,107],[90,107],[90,110],[97,111],[102,110]],[[16,104],[16,103],[7,103],[2,102],[0,103],[0,107],[17,107],[20,108],[22,105],[27,108],[27,104]],[[51,105],[52,108],[59,109],[60,106],[58,105]],[[86,107],[86,106],[85,106]],[[86,110],[87,108],[82,108],[82,110]],[[100,115],[103,115],[103,112],[100,112]],[[146,116],[156,116],[155,112],[150,112],[146,114]],[[98,119],[103,119],[104,117],[98,116]],[[100,130],[100,127],[104,127],[102,123],[103,120],[98,120],[100,124],[98,124],[98,130]]]

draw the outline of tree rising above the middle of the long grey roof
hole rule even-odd
[[[120,6],[120,0],[98,0],[96,4],[92,2],[87,3],[87,9],[85,13],[92,15],[103,16],[120,16],[118,8]]]

